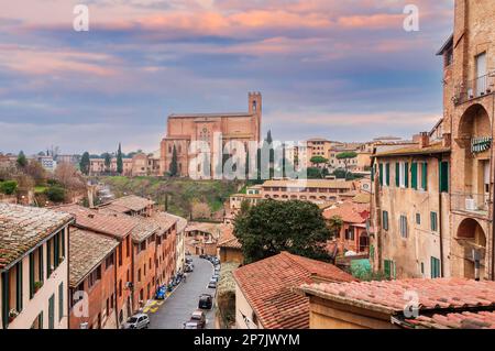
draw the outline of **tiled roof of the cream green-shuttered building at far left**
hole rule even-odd
[[[0,202],[0,270],[72,220],[67,213]]]

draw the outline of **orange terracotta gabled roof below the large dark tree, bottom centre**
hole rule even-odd
[[[309,328],[309,299],[293,288],[311,283],[314,275],[334,282],[355,281],[332,264],[287,252],[234,271],[237,284],[267,329]]]

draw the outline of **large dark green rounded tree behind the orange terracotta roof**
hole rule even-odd
[[[324,250],[330,231],[321,210],[311,202],[262,201],[238,215],[234,232],[242,244],[246,263],[282,251],[316,260],[330,260]]]

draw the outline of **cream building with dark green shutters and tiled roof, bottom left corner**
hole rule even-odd
[[[0,328],[67,328],[73,221],[67,213],[0,204]]]

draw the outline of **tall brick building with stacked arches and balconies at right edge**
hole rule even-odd
[[[455,1],[443,56],[442,130],[452,139],[451,274],[494,278],[495,2]]]

